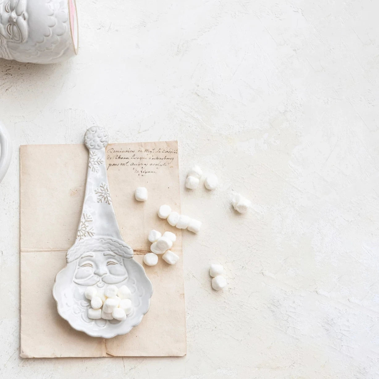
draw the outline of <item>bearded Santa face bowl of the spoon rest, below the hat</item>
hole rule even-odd
[[[95,245],[94,238],[86,240],[86,249],[73,249],[72,258],[67,262],[66,267],[56,274],[53,286],[53,298],[58,305],[59,314],[66,319],[70,325],[93,337],[111,338],[115,335],[128,333],[132,327],[141,322],[142,316],[150,306],[150,298],[153,287],[147,278],[143,266],[133,257],[121,257],[113,251],[121,251],[120,244],[114,240],[103,241],[99,238],[98,243],[103,243],[103,250],[97,247],[88,248],[88,244]],[[83,247],[84,242],[77,243],[77,247]],[[107,246],[105,248],[105,246]],[[110,247],[114,247],[114,250]],[[118,249],[118,250],[117,250]],[[129,248],[130,249],[130,248]],[[77,255],[75,253],[78,253]],[[131,255],[125,246],[125,255]],[[78,258],[77,258],[78,257]],[[89,319],[88,309],[91,307],[88,299],[85,298],[85,288],[94,286],[103,287],[105,284],[114,284],[117,287],[126,285],[132,296],[130,300],[133,310],[127,319],[120,323],[116,320]],[[102,289],[102,288],[101,288]]]

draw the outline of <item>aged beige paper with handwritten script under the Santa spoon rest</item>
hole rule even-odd
[[[142,264],[151,229],[172,231],[182,257],[182,235],[157,216],[161,204],[180,211],[177,142],[110,144],[107,172],[117,221]],[[183,356],[186,354],[182,259],[145,267],[154,293],[141,324],[109,340],[72,329],[56,311],[51,290],[75,241],[84,197],[84,145],[20,147],[20,285],[22,357]],[[147,202],[134,190],[148,189]]]

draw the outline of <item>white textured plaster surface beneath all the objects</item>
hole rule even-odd
[[[0,375],[379,377],[379,4],[83,0],[78,13],[74,60],[0,60],[14,145],[0,185]],[[19,145],[81,143],[91,125],[113,142],[179,141],[182,210],[203,221],[183,234],[185,357],[19,358]],[[192,164],[219,190],[186,190]],[[249,214],[232,210],[232,190]],[[216,261],[229,276],[218,293]]]

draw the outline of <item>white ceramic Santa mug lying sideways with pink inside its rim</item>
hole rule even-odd
[[[56,63],[77,53],[75,0],[0,0],[0,58]]]

